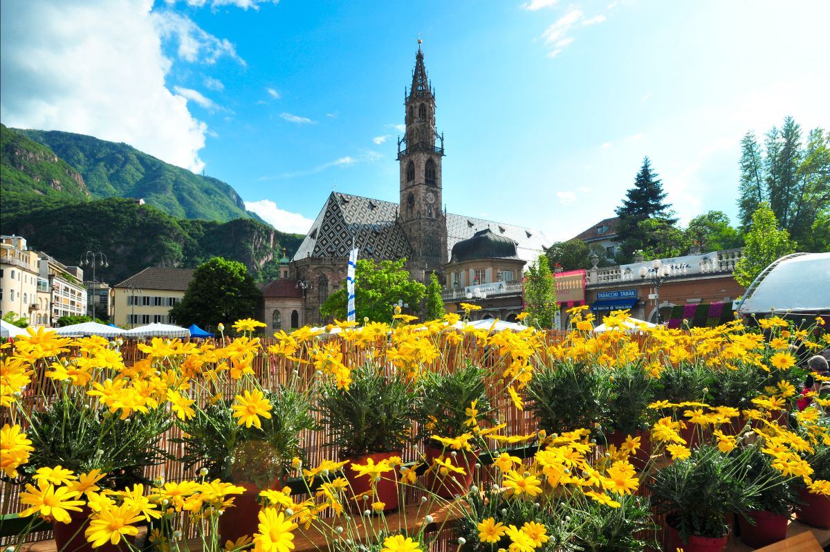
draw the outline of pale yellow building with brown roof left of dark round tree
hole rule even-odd
[[[184,297],[193,268],[149,266],[112,286],[112,320],[122,328],[170,324],[170,308]]]

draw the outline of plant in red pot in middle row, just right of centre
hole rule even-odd
[[[438,496],[449,498],[464,494],[473,478],[478,452],[482,444],[476,438],[482,425],[494,420],[493,407],[487,398],[486,377],[490,373],[466,362],[452,371],[425,371],[419,381],[419,419],[427,466],[427,488]],[[463,441],[445,445],[435,437]],[[442,474],[439,462],[450,462],[460,472]],[[446,471],[446,470],[445,470]]]

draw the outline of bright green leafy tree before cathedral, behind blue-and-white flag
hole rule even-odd
[[[378,264],[370,259],[358,259],[354,269],[356,320],[369,318],[373,322],[391,322],[394,305],[399,300],[417,310],[427,288],[421,282],[409,279],[409,272],[403,268],[406,261],[380,261]],[[324,319],[333,316],[337,320],[346,320],[347,299],[345,286],[334,291],[320,305],[320,315]]]

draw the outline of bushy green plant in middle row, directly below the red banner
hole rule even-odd
[[[564,361],[537,369],[525,387],[528,408],[549,433],[593,428],[608,413],[611,373],[601,366]]]

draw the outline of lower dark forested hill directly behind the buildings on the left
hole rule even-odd
[[[266,280],[282,247],[291,256],[303,239],[251,218],[176,219],[125,198],[5,214],[2,233],[24,236],[30,247],[66,265],[76,265],[87,251],[105,252],[110,266],[96,271],[96,277],[110,284],[147,266],[195,267],[212,256],[242,261],[255,277]]]

